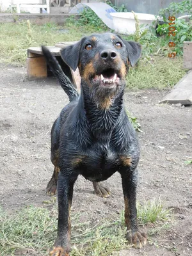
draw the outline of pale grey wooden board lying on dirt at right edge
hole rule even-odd
[[[192,70],[180,79],[180,81],[174,86],[173,90],[168,93],[160,103],[181,103],[182,105],[192,104]]]

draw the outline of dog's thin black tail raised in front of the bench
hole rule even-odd
[[[70,79],[68,79],[68,77],[64,74],[56,58],[45,46],[42,46],[42,52],[44,54],[45,60],[47,61],[47,64],[51,68],[52,73],[60,82],[60,85],[65,93],[67,93],[69,101],[76,100],[79,97],[79,94],[77,93]]]

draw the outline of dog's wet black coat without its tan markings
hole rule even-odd
[[[113,49],[120,54],[128,70],[127,59],[131,65],[138,61],[141,53],[140,45],[127,42],[115,35],[116,40],[122,43],[122,49],[115,49],[111,35],[113,34],[92,35],[97,38],[96,42],[92,42],[92,36],[85,37],[77,44],[61,50],[61,57],[74,70],[80,63],[82,75],[83,68],[92,61],[95,54],[98,52],[100,54],[104,49]],[[92,42],[95,47],[93,51],[85,49],[85,45],[89,42]],[[134,234],[138,231],[135,200],[138,180],[136,166],[140,157],[140,149],[136,132],[124,108],[125,79],[122,78],[120,84],[113,89],[115,96],[110,108],[100,109],[94,100],[95,93],[104,99],[110,90],[99,88],[99,84],[95,84],[90,89],[88,81],[82,79],[79,96],[49,50],[42,47],[42,51],[70,99],[70,103],[63,108],[51,131],[51,160],[54,161],[56,152],[59,150],[58,166],[60,167],[58,238],[54,246],[62,246],[66,252],[70,250],[70,239],[67,236],[67,232],[70,232],[68,231],[70,229],[68,207],[72,202],[73,186],[79,174],[88,180],[97,182],[108,179],[117,171],[121,174],[124,197],[129,200],[131,224],[127,229],[131,229]],[[111,67],[111,65],[113,64],[104,64],[99,59],[94,64],[95,72],[100,72],[104,67]],[[118,63],[114,68],[117,66]],[[120,156],[131,157],[131,166],[125,166],[120,161]],[[81,161],[74,164],[74,159],[81,159]]]

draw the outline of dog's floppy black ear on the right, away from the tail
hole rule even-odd
[[[133,67],[141,56],[141,45],[137,42],[123,40],[127,48],[128,60]]]

